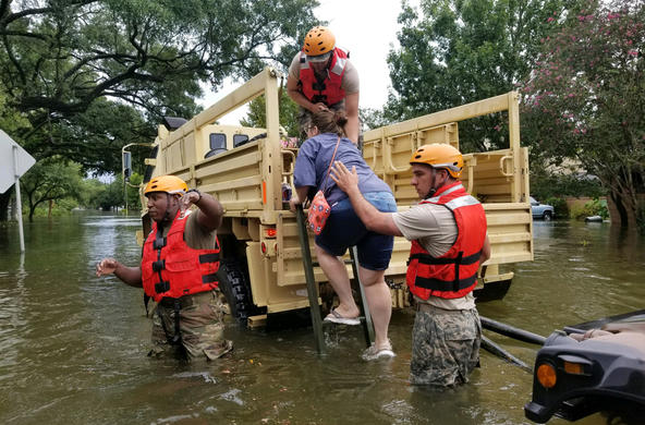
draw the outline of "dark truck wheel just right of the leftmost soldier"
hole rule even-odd
[[[253,308],[248,277],[243,265],[234,259],[220,262],[217,272],[219,288],[224,295],[231,316],[240,324],[246,323]]]

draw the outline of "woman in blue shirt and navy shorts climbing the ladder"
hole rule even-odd
[[[350,278],[342,259],[348,247],[356,245],[358,251],[358,275],[365,287],[365,298],[374,321],[376,341],[366,350],[364,359],[391,357],[388,325],[392,314],[390,290],[385,281],[385,270],[390,264],[393,236],[375,233],[352,209],[352,204],[333,180],[328,178],[329,165],[336,150],[334,161],[341,161],[349,169],[356,168],[358,187],[365,198],[378,210],[397,211],[397,203],[390,187],[380,180],[363,159],[356,146],[345,137],[344,111],[318,111],[313,116],[312,126],[305,129],[308,139],[301,146],[293,171],[295,204],[322,190],[331,206],[331,214],[322,232],[316,236],[316,256],[336,291],[340,304],[325,318],[327,321],[344,325],[360,325],[360,309],[352,295]],[[338,146],[338,147],[337,147]]]

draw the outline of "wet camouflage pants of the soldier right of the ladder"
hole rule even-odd
[[[411,384],[447,387],[468,381],[479,363],[482,342],[476,308],[448,311],[424,304],[412,332]]]

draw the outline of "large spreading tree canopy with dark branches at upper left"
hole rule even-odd
[[[0,2],[0,81],[33,123],[85,111],[100,97],[154,117],[192,116],[199,81],[248,77],[287,63],[313,23],[303,0]]]

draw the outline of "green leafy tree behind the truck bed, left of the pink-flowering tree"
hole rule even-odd
[[[394,120],[501,95],[516,88],[539,53],[549,15],[568,0],[422,0],[404,4],[400,48],[388,54],[395,94],[385,109]],[[466,151],[508,147],[501,114],[460,123]],[[497,129],[496,129],[497,127]]]

